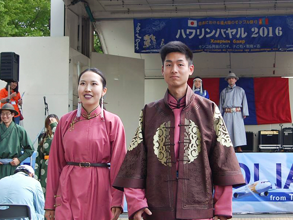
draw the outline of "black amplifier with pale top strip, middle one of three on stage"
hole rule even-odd
[[[258,143],[260,149],[280,149],[280,131],[259,131]]]

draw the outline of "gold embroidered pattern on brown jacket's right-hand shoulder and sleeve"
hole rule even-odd
[[[231,142],[227,127],[224,123],[224,119],[221,115],[221,112],[217,106],[213,118],[214,130],[217,135],[217,141],[220,142],[220,144],[222,144],[223,146],[232,147],[233,144]]]

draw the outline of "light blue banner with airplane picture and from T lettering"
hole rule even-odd
[[[293,154],[237,154],[246,185],[233,189],[233,213],[293,212]]]

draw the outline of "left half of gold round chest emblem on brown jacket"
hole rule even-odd
[[[166,128],[167,127],[167,128]],[[157,155],[159,161],[165,166],[171,166],[170,157],[170,121],[164,122],[156,131],[154,135],[154,153]]]

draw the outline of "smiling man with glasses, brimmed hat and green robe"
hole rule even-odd
[[[17,166],[34,153],[33,144],[23,127],[14,123],[18,112],[6,103],[0,109],[0,179],[14,174]],[[23,153],[21,153],[23,150]]]

